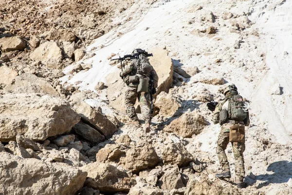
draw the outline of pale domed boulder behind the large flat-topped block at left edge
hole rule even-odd
[[[4,88],[6,93],[41,93],[59,97],[60,95],[54,87],[44,78],[36,75],[24,73],[15,77],[14,82]]]

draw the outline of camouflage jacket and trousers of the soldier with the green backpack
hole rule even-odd
[[[222,101],[219,102],[219,104],[216,106],[215,111],[214,111],[214,116],[212,118],[212,121],[214,124],[219,123],[219,112],[221,111],[221,108],[223,104],[226,102],[226,100],[233,95],[228,95],[226,98]],[[249,125],[249,116],[247,118],[247,124],[244,125],[244,122],[236,122],[234,120],[228,120],[226,123],[222,124],[221,130],[218,136],[217,140],[217,155],[219,159],[219,163],[222,167],[223,172],[230,171],[229,168],[229,162],[227,159],[227,156],[225,154],[225,150],[227,148],[227,145],[229,143],[229,132],[230,132],[230,126],[231,125],[237,125],[237,126],[248,126]],[[245,171],[244,171],[244,159],[243,159],[243,152],[245,150],[245,144],[244,143],[237,143],[237,142],[231,142],[232,144],[232,149],[233,149],[233,155],[235,158],[235,173],[236,173],[236,179],[237,182],[243,182]]]

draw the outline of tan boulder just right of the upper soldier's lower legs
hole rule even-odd
[[[155,107],[164,117],[172,117],[182,106],[182,102],[171,94],[161,92],[155,101]]]

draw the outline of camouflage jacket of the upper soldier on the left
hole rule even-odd
[[[137,66],[139,65],[138,59],[131,59],[125,61],[125,69],[121,72],[121,76],[124,77],[124,81],[127,83],[127,77],[128,76],[134,76],[137,74]],[[153,80],[153,87],[158,87],[158,75],[154,68],[152,67],[152,70],[147,75],[140,75],[140,77],[146,77],[148,79]],[[132,85],[132,84],[129,84]]]

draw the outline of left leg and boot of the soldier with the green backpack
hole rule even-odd
[[[230,168],[229,168],[229,162],[227,159],[227,156],[225,154],[225,150],[227,148],[227,145],[229,143],[229,132],[227,132],[227,129],[222,128],[218,140],[217,140],[217,156],[219,159],[219,163],[221,165],[221,168],[223,172],[221,174],[216,174],[219,178],[230,178]]]

